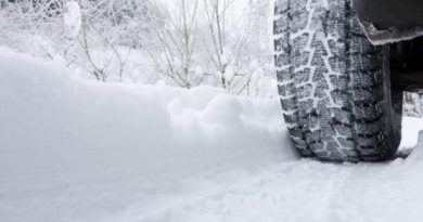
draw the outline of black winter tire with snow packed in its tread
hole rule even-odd
[[[379,161],[401,140],[402,91],[389,49],[367,39],[351,0],[277,0],[274,63],[283,116],[305,157]]]

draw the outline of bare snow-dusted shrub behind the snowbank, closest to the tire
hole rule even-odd
[[[256,26],[257,5],[254,1],[203,0],[205,24],[210,44],[206,47],[219,82],[227,91],[241,94],[249,87],[256,73],[260,40],[255,37],[260,26]],[[246,6],[246,12],[242,6]],[[261,9],[260,9],[261,10]],[[262,27],[262,24],[261,24]],[[269,53],[270,54],[270,53]],[[258,56],[258,57],[255,57]]]

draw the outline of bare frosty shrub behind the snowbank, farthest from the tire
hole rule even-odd
[[[79,43],[93,76],[100,81],[107,81],[110,77],[123,81],[132,49],[140,45],[129,40],[136,36],[126,36],[128,31],[133,34],[137,4],[132,1],[129,1],[130,4],[118,3],[111,0],[84,1],[81,5],[84,23]],[[89,36],[94,38],[90,41]],[[104,53],[94,57],[99,50]]]

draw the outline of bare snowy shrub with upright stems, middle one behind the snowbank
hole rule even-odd
[[[177,86],[197,86],[204,79],[194,65],[198,0],[176,0],[170,6],[163,5],[163,2],[153,2],[154,47],[149,54],[157,70]]]

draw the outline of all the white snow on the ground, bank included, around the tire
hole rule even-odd
[[[405,118],[401,146],[423,120]],[[97,83],[0,49],[0,221],[421,221],[423,141],[296,157],[278,100]]]

